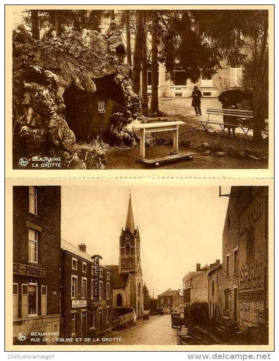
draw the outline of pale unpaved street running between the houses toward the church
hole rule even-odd
[[[100,342],[102,345],[177,345],[179,328],[172,328],[171,316],[150,316],[143,321],[139,319],[135,326],[112,331],[102,338],[122,338],[122,341]]]

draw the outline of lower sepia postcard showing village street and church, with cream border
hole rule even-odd
[[[6,182],[6,350],[272,351],[270,180]]]

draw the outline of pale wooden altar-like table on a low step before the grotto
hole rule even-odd
[[[185,123],[182,121],[135,124],[134,128],[138,129],[140,132],[139,161],[147,165],[158,166],[160,163],[168,163],[171,161],[188,158],[189,156],[194,155],[195,153],[192,152],[186,152],[183,154],[179,154],[178,152],[178,128],[180,125],[184,124]],[[145,159],[145,134],[166,131],[174,132],[173,151],[171,152],[171,155],[160,158]]]

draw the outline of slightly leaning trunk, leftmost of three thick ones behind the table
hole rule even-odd
[[[143,10],[137,11],[136,39],[133,58],[132,85],[136,94],[140,95],[140,70],[142,53]]]

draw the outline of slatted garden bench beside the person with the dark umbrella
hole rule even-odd
[[[250,129],[253,129],[253,112],[251,110],[240,110],[240,109],[221,109],[221,108],[207,108],[206,109],[207,120],[199,120],[202,124],[203,128],[206,129],[208,124],[218,124],[222,129],[221,134],[226,134],[226,128],[241,128],[243,131],[244,137],[247,137],[251,140],[248,136],[248,132]],[[238,123],[224,123],[224,121],[220,122],[218,120],[210,119],[212,115],[220,115],[220,116],[227,116],[227,117],[236,117],[238,118]],[[229,130],[228,130],[229,133]]]

